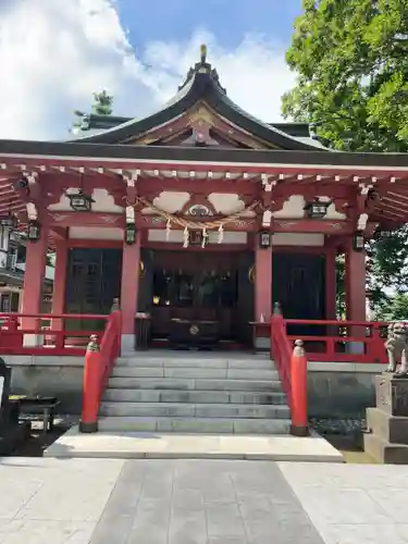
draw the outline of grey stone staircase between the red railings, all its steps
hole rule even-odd
[[[137,354],[118,359],[99,430],[288,434],[289,408],[264,356]]]

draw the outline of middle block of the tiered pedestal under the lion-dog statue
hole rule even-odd
[[[391,444],[408,445],[408,418],[391,416],[379,408],[368,408],[367,429]]]

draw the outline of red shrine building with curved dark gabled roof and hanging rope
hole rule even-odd
[[[152,115],[0,140],[0,213],[28,236],[22,311],[40,311],[51,248],[52,311],[108,313],[120,297],[126,348],[137,312],[156,341],[205,330],[260,345],[254,323],[274,301],[335,318],[341,252],[347,318],[364,320],[363,242],[407,221],[408,156],[331,151],[306,124],[269,121],[232,101],[203,48]]]

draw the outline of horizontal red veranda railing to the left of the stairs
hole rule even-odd
[[[0,356],[85,354],[89,336],[102,338],[103,330],[66,329],[66,321],[99,321],[109,316],[79,313],[0,313]]]

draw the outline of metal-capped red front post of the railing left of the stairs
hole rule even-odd
[[[85,354],[83,412],[79,421],[81,433],[98,431],[100,394],[101,354],[97,336],[92,335]]]

